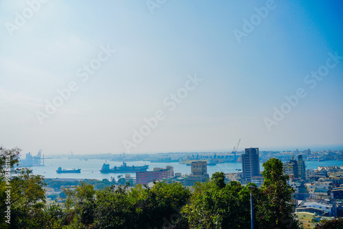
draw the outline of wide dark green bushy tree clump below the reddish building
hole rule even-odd
[[[165,228],[180,219],[180,208],[190,196],[179,183],[157,182],[152,188],[140,184],[105,188],[97,193],[95,228]],[[180,221],[178,221],[180,223]]]

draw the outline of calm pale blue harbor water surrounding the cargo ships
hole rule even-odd
[[[43,167],[32,167],[33,173],[36,175],[42,175],[45,178],[80,178],[80,179],[97,179],[102,180],[104,178],[110,179],[114,177],[117,180],[117,177],[120,175],[125,176],[125,173],[100,173],[100,169],[104,164],[105,160],[79,160],[79,159],[46,159],[45,166]],[[119,167],[122,165],[122,162],[116,161],[107,161],[110,164],[110,168]],[[127,162],[128,166],[139,166],[139,165],[149,165],[147,171],[152,171],[154,167],[166,167],[171,165],[174,167],[174,173],[191,173],[191,167],[185,164],[179,164],[178,162],[169,162],[169,163],[152,163],[145,161],[134,161]],[[317,169],[318,166],[333,166],[343,165],[342,160],[327,160],[327,161],[305,161],[306,169]],[[62,169],[81,169],[81,173],[56,173],[56,169],[62,167]],[[208,166],[207,171],[209,176],[216,171],[223,171],[224,173],[234,173],[237,169],[241,169],[241,162],[228,162],[223,164],[217,164],[213,166]],[[263,170],[262,163],[260,163],[260,169]],[[135,173],[130,173],[131,176],[135,177]]]

